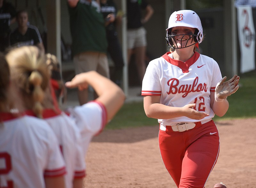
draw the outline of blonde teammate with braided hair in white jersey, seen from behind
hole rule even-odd
[[[46,56],[35,46],[25,46],[13,49],[6,55],[6,58],[12,72],[15,73],[13,79],[19,88],[26,88],[27,86],[27,92],[23,93],[23,96],[28,104],[33,105],[34,101],[38,101],[37,105],[44,107],[43,110],[36,111],[33,107],[25,105],[25,113],[44,118],[57,136],[59,149],[61,149],[66,163],[66,187],[82,188],[85,161],[81,135],[75,122],[61,112],[58,106],[54,105],[55,98],[51,96],[50,71],[46,64]],[[31,83],[29,86],[29,82],[36,83],[37,93],[29,91],[29,87],[33,87]]]

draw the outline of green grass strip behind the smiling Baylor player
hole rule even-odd
[[[213,120],[256,117],[256,72],[240,75],[239,89],[228,97],[229,109],[223,117]],[[148,118],[143,102],[125,103],[106,129],[157,125],[157,119]]]

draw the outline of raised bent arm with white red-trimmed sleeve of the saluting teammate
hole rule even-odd
[[[79,90],[91,85],[99,96],[82,106],[68,108],[67,112],[74,119],[83,140],[84,156],[93,136],[98,135],[124,103],[124,92],[114,82],[95,71],[77,74],[66,87],[78,87]]]

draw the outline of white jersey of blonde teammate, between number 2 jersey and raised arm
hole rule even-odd
[[[74,178],[83,178],[85,176],[82,140],[75,122],[67,114],[60,110],[56,111],[44,109],[43,118],[50,125],[59,141],[60,149],[66,163],[66,187],[72,188]],[[35,115],[32,111],[26,111],[26,114]]]

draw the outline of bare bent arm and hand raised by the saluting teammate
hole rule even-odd
[[[99,96],[96,100],[101,102],[107,110],[108,121],[111,120],[123,106],[125,95],[120,87],[96,71],[77,74],[70,82],[65,83],[68,88],[77,87],[84,90],[91,85]]]

